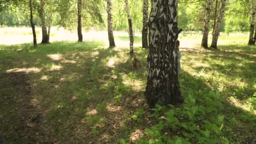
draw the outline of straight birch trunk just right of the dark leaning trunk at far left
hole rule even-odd
[[[41,6],[40,17],[41,17],[42,35],[43,35],[41,43],[48,43],[47,27],[45,23],[45,0],[40,0],[40,6]]]

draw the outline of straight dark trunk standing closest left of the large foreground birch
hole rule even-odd
[[[143,28],[142,28],[142,48],[148,48],[148,0],[144,0],[143,5]]]

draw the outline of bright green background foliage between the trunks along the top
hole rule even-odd
[[[216,8],[216,0],[213,0],[212,10]],[[141,31],[142,23],[142,0],[130,0],[131,18],[133,29]],[[50,11],[50,0],[46,0],[46,21],[49,21],[49,13],[53,13],[52,24],[67,29],[76,28],[75,1],[53,0],[53,10]],[[113,29],[128,30],[126,22],[125,3],[123,0],[113,0]],[[17,6],[19,5],[19,6]],[[205,0],[179,0],[178,1],[178,23],[184,31],[203,31]],[[217,4],[219,9],[220,3]],[[150,4],[149,4],[150,6]],[[29,27],[28,3],[24,0],[1,0],[0,3],[0,24],[2,27]],[[34,0],[35,25],[40,26],[40,1]],[[107,29],[107,5],[104,0],[87,0],[84,11],[83,29],[103,30]],[[249,0],[228,0],[221,32],[248,32],[250,28],[250,1]],[[213,29],[215,13],[211,11],[210,29]]]

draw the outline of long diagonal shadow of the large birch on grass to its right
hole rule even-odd
[[[256,115],[252,112],[245,111],[237,107],[231,101],[225,98],[225,93],[212,89],[205,83],[201,77],[195,77],[188,72],[182,70],[180,75],[181,90],[186,97],[193,96],[196,100],[196,106],[204,106],[206,109],[213,108],[210,113],[206,112],[203,120],[216,120],[212,117],[216,115],[224,115],[224,128],[222,129],[222,136],[225,136],[230,141],[235,143],[253,143],[256,131]],[[201,91],[201,92],[200,92]],[[221,96],[208,97],[211,92],[220,93]],[[181,108],[182,109],[182,108]],[[198,120],[199,122],[200,120]]]

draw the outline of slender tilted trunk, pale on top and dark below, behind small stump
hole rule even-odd
[[[133,53],[133,27],[131,23],[131,15],[130,15],[130,9],[129,9],[129,3],[128,0],[125,0],[125,7],[126,7],[126,13],[128,17],[128,24],[129,24],[129,37],[130,37],[130,53]]]

